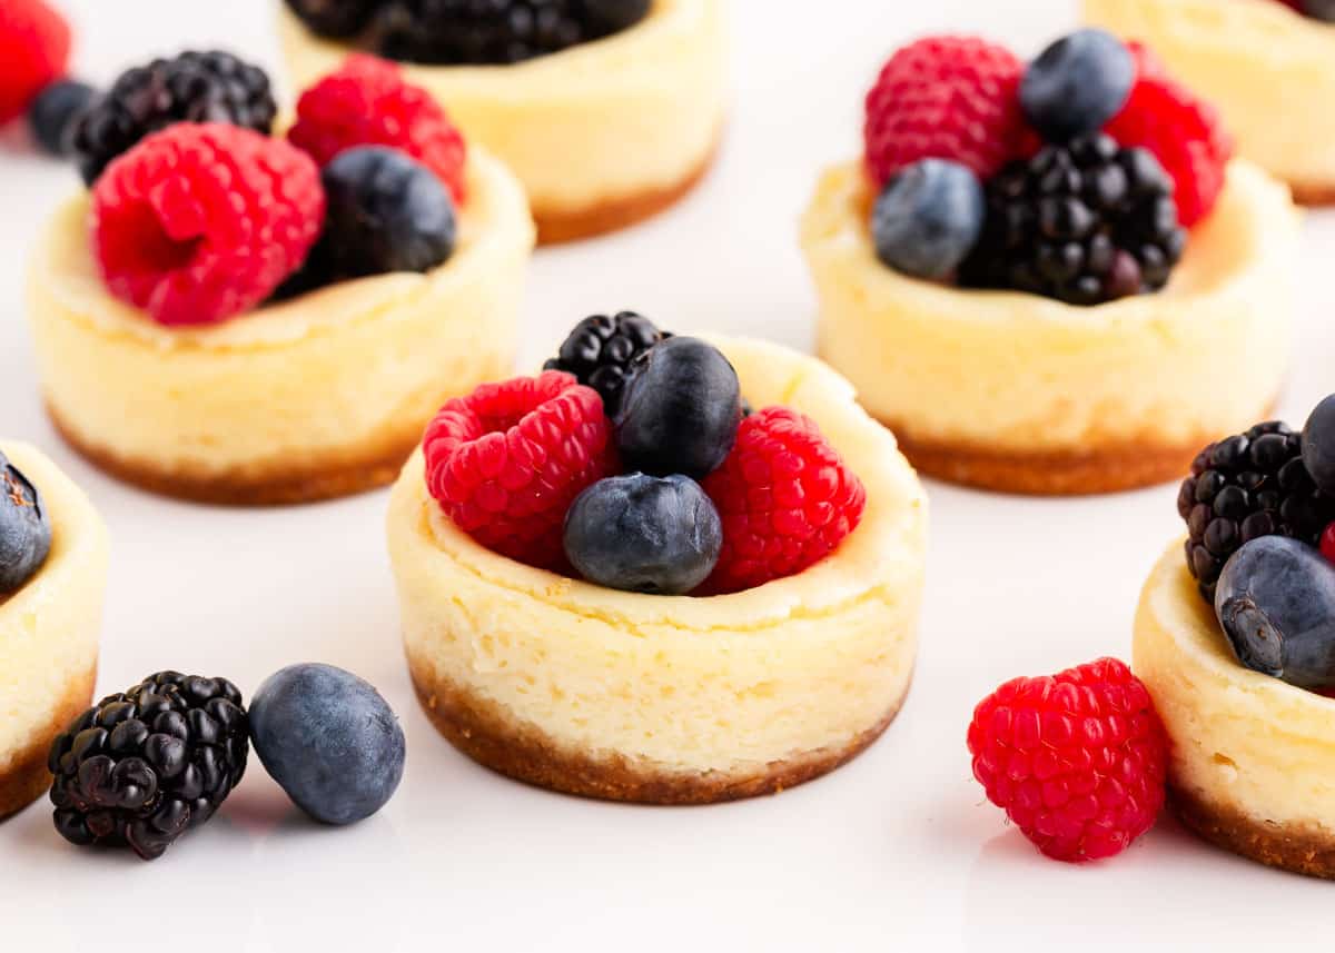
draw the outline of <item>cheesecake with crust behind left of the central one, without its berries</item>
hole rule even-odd
[[[534,227],[523,190],[470,149],[454,255],[425,275],[340,282],[220,324],[167,327],[115,299],[87,195],[29,271],[43,392],[65,439],[172,497],[291,503],[392,482],[450,396],[506,374]]]

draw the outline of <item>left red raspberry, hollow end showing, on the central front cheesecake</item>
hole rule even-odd
[[[617,472],[598,391],[563,371],[482,384],[441,408],[422,440],[431,497],[501,555],[565,571],[566,510]]]

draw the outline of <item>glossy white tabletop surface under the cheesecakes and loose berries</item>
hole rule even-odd
[[[274,61],[264,0],[67,0],[77,64],[105,80],[155,52],[215,44]],[[752,25],[748,27],[748,17]],[[570,324],[638,308],[662,324],[808,346],[813,295],[796,219],[817,168],[858,147],[861,96],[910,36],[977,31],[1032,52],[1075,20],[1061,0],[738,3],[736,109],[717,171],[669,215],[533,267],[530,363]],[[1179,533],[1173,487],[1073,502],[930,485],[922,653],[908,707],[870,751],[784,793],[705,809],[559,797],[457,754],[413,699],[382,539],[383,493],[291,510],[156,499],[100,475],[43,418],[24,326],[32,235],[75,179],[0,143],[0,432],[83,485],[113,535],[99,687],[164,667],[226,674],[250,695],[288,662],[376,683],[409,737],[398,797],[347,830],[290,808],[258,762],[220,816],[151,865],[76,852],[45,804],[0,825],[0,949],[853,950],[1244,949],[1330,933],[1326,885],[1214,850],[1164,820],[1123,857],[1039,857],[969,774],[964,729],[999,682],[1125,657],[1136,595]],[[1335,382],[1315,216],[1300,423]],[[1228,368],[1220,368],[1227,374]],[[1320,942],[1318,940],[1318,942]]]

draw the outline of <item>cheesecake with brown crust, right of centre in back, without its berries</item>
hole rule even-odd
[[[820,354],[924,474],[1037,494],[1157,483],[1279,394],[1299,215],[1247,162],[1167,288],[1096,307],[896,272],[873,247],[873,198],[861,163],[838,166],[802,219]]]

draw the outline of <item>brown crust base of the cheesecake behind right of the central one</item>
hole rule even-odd
[[[1214,436],[1177,446],[1108,443],[1087,452],[993,450],[971,443],[917,440],[881,420],[900,442],[909,463],[926,476],[951,483],[1036,497],[1117,493],[1185,476],[1200,448]]]

